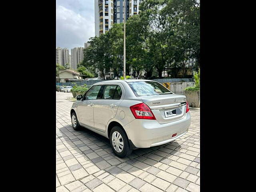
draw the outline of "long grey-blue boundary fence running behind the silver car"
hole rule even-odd
[[[166,88],[168,88],[175,94],[184,94],[184,89],[186,87],[192,87],[195,85],[195,82],[192,78],[172,78],[172,79],[152,79],[152,80],[163,84]],[[90,87],[94,83],[102,82],[102,81],[107,81],[107,80],[66,82],[66,83],[59,83],[59,86],[74,86],[74,83],[76,83],[77,86],[82,86],[86,84],[87,87]],[[58,83],[56,83],[56,85],[58,85]]]

